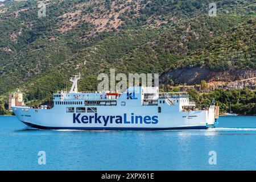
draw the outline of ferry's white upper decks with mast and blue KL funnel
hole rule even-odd
[[[179,110],[195,107],[195,102],[189,102],[187,92],[159,92],[159,88],[130,86],[123,93],[79,92],[77,81],[80,75],[70,79],[73,82],[71,90],[53,94],[55,105],[79,106],[160,106],[176,105]]]

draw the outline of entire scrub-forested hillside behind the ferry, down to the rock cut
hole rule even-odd
[[[0,2],[0,95],[20,88],[47,100],[78,72],[79,89],[95,90],[110,68],[255,69],[255,2],[214,1],[215,17],[210,2],[51,0],[41,18],[37,1]]]

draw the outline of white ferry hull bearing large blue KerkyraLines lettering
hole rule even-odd
[[[97,113],[61,113],[54,107],[53,109],[13,107],[13,110],[20,121],[38,129],[175,130],[207,129],[209,126],[214,126],[214,110],[179,112],[178,105],[174,105],[167,107],[166,110],[162,109],[162,113],[157,113],[157,106],[134,107],[129,111],[118,109],[117,106],[108,107],[108,110],[102,106],[98,107]],[[122,120],[117,116],[121,116]],[[151,120],[154,116],[157,117],[157,121]],[[148,121],[146,119],[144,122],[145,117],[151,119]]]

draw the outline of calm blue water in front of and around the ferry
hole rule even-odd
[[[38,164],[39,151],[46,165]],[[26,130],[15,117],[0,117],[0,154],[1,170],[256,170],[256,117],[179,131]]]

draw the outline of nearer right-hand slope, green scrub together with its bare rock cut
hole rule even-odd
[[[214,38],[178,61],[179,69],[168,78],[189,85],[207,82],[231,82],[256,76],[256,19],[248,20]],[[163,77],[163,76],[162,76]]]

